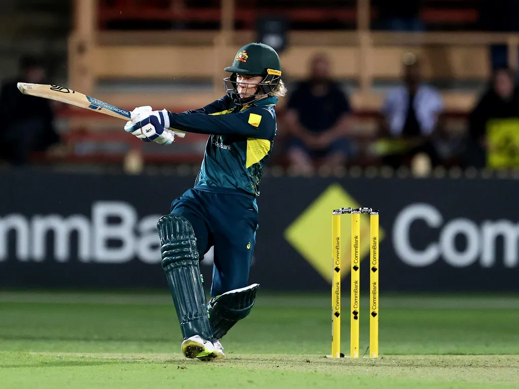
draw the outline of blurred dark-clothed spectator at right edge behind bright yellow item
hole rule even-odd
[[[501,68],[494,72],[487,90],[469,115],[469,137],[467,141],[466,162],[468,166],[484,168],[487,164],[489,146],[501,148],[497,154],[517,158],[515,134],[519,134],[519,89],[515,87],[514,72]],[[499,120],[516,119],[516,120]],[[493,122],[490,122],[493,120]],[[501,133],[491,136],[489,124],[503,124]],[[494,127],[495,128],[495,127]],[[490,137],[490,138],[489,138]],[[503,139],[507,144],[502,144]],[[492,145],[489,145],[491,143]],[[501,145],[500,145],[501,144]],[[509,149],[515,149],[514,155]],[[517,167],[517,166],[515,166]]]

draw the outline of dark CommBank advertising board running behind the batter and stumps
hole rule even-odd
[[[1,288],[167,286],[155,225],[194,176],[28,169],[0,179]],[[331,212],[365,206],[380,211],[381,293],[519,291],[517,188],[511,179],[265,177],[250,282],[328,291]],[[136,201],[144,193],[154,200]],[[350,222],[343,217],[343,269]],[[361,220],[363,291],[367,223]],[[210,252],[201,265],[206,286],[211,260]]]

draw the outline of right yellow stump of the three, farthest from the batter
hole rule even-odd
[[[378,358],[378,213],[370,216],[370,356]]]

